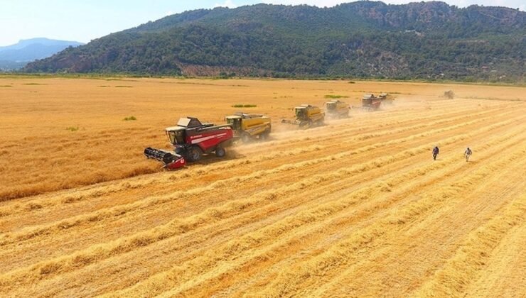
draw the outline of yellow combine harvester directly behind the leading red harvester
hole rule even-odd
[[[256,138],[266,139],[271,129],[270,118],[258,114],[237,112],[234,115],[226,116],[225,120],[232,124],[234,136],[241,138],[245,143]]]

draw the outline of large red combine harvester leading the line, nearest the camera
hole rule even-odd
[[[222,158],[226,154],[225,148],[233,143],[234,132],[230,126],[232,124],[201,123],[193,117],[181,118],[177,126],[165,129],[175,153],[149,147],[144,149],[144,155],[164,162],[164,167],[169,170],[183,167],[186,161],[200,160],[203,154],[215,153]]]

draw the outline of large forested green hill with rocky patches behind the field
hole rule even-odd
[[[179,13],[26,72],[524,81],[526,13],[443,2],[257,4]]]

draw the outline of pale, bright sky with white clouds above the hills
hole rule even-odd
[[[331,7],[349,1],[353,0],[1,0],[0,46],[12,45],[21,39],[37,37],[88,43],[90,40],[109,33],[192,9],[213,9],[217,6],[235,8],[257,3]],[[384,2],[406,4],[412,1],[387,0]],[[526,10],[526,0],[443,1],[459,7],[478,4]]]

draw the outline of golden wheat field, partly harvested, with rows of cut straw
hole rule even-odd
[[[369,92],[395,104],[279,123]],[[525,94],[0,77],[0,297],[525,297]],[[271,116],[272,138],[173,172],[142,155],[179,117],[222,123],[234,104]]]

